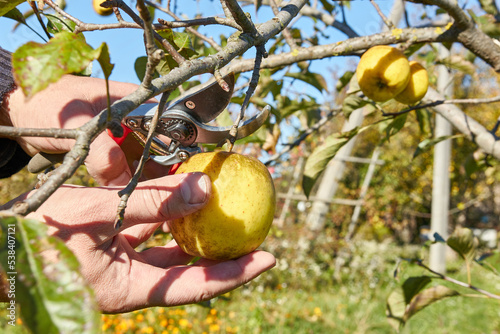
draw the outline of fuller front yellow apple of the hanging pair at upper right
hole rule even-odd
[[[406,87],[410,80],[410,64],[400,50],[377,45],[361,56],[356,76],[359,88],[368,98],[384,102]]]

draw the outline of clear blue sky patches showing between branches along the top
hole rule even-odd
[[[129,5],[133,6],[135,1],[128,0],[126,1]],[[172,1],[174,2],[174,1]],[[193,13],[203,13],[205,16],[211,15],[220,15],[221,9],[219,1],[209,1],[209,0],[178,0],[179,4],[178,14],[187,13],[192,15]],[[115,22],[114,16],[109,17],[101,17],[98,16],[92,9],[91,1],[76,1],[76,0],[67,0],[67,8],[68,13],[74,15],[80,20],[88,23],[112,23]],[[184,5],[180,7],[180,4]],[[392,1],[380,1],[380,8],[388,13],[391,6]],[[21,11],[26,11],[29,9],[27,4],[22,4],[18,6]],[[246,8],[255,19],[255,12],[253,8]],[[161,14],[158,14],[161,15]],[[162,17],[166,17],[166,15],[162,15]],[[263,22],[269,19],[269,13],[266,13],[263,10],[260,10],[256,21]],[[129,20],[129,18],[124,14],[124,18]],[[348,22],[353,26],[353,28],[361,35],[375,33],[380,29],[380,17],[374,10],[373,6],[369,1],[353,1],[351,2],[351,9],[347,11]],[[29,24],[40,31],[38,23],[31,18]],[[14,21],[7,18],[0,18],[0,31],[3,34],[1,46],[10,51],[15,50],[20,45],[28,42],[28,41],[38,41],[41,42],[40,38],[37,37],[33,32],[31,32],[28,28],[21,26],[16,30],[15,33],[12,33],[12,28],[14,26]],[[306,34],[308,31],[311,31],[311,25],[305,24],[299,27]],[[207,35],[212,35],[217,37],[221,30],[217,27],[201,27],[200,31]],[[346,37],[335,31],[333,28],[328,28],[325,30],[325,33],[330,36],[332,41],[343,40]],[[124,81],[124,82],[133,82],[138,83],[137,76],[134,71],[134,62],[137,57],[143,56],[144,46],[142,43],[142,33],[140,30],[136,29],[120,29],[120,30],[107,30],[107,31],[96,31],[96,32],[87,32],[85,33],[87,42],[93,47],[99,46],[101,43],[106,42],[110,49],[111,61],[115,64],[115,68],[111,75],[112,80],[116,81]],[[249,55],[253,55],[253,52],[250,52]],[[341,68],[348,66],[346,65],[345,58],[338,58],[324,62],[326,66],[332,69],[341,70]],[[319,65],[319,64],[318,64]],[[324,69],[325,64],[319,65],[321,69]],[[100,76],[100,71],[98,66],[94,67],[94,75]],[[333,84],[333,83],[332,83]]]

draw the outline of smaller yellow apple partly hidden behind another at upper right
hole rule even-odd
[[[410,62],[410,73],[411,78],[408,85],[394,99],[398,102],[412,105],[419,102],[425,96],[425,93],[427,93],[429,76],[425,67],[416,61]]]

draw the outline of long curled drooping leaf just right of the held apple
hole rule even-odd
[[[353,135],[354,136],[354,135]],[[330,160],[344,146],[350,138],[339,137],[337,134],[328,136],[323,145],[318,146],[309,156],[304,168],[302,188],[307,197],[318,180],[318,177],[325,170]]]

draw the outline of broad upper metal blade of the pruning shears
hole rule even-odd
[[[225,91],[215,79],[201,86],[193,87],[185,94],[171,101],[166,112],[184,111],[202,123],[214,120],[229,104],[234,90],[234,73],[223,77],[228,90]]]

